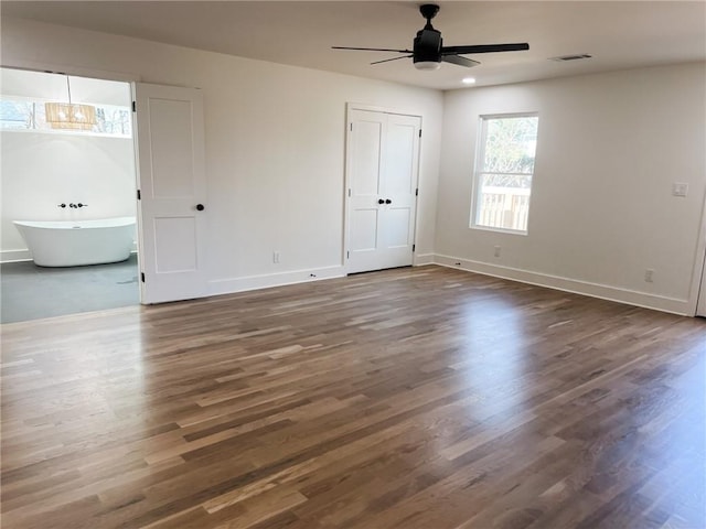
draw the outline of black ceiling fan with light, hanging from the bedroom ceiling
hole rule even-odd
[[[333,50],[362,50],[368,52],[395,52],[406,53],[400,57],[386,58],[383,61],[376,61],[371,64],[387,63],[389,61],[397,61],[400,58],[409,58],[414,61],[417,69],[439,69],[441,62],[456,64],[458,66],[466,66],[470,68],[480,64],[472,58],[462,57],[461,55],[474,54],[474,53],[493,53],[493,52],[520,52],[530,50],[530,44],[526,42],[514,44],[477,44],[471,46],[443,46],[441,39],[441,32],[435,30],[431,25],[431,19],[434,19],[439,12],[439,6],[434,3],[425,3],[419,7],[419,12],[427,19],[426,25],[417,32],[417,36],[414,40],[414,46],[411,50],[387,50],[381,47],[349,47],[349,46],[332,46]]]

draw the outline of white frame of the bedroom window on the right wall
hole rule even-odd
[[[482,115],[478,117],[478,141],[475,144],[475,161],[473,166],[473,182],[471,186],[471,212],[470,212],[470,224],[469,227],[471,229],[482,229],[484,231],[500,231],[504,234],[512,235],[527,235],[530,229],[530,210],[532,203],[532,185],[530,186],[530,193],[527,198],[527,228],[526,229],[513,229],[513,228],[503,228],[495,226],[486,226],[484,224],[478,224],[478,216],[481,208],[481,176],[483,174],[488,174],[483,171],[483,163],[485,161],[485,138],[488,137],[488,121],[493,119],[513,119],[513,118],[539,118],[539,112],[537,111],[528,111],[528,112],[509,112],[509,114],[489,114]],[[538,128],[538,121],[537,121]],[[535,162],[536,162],[536,147],[535,147]],[[502,173],[502,174],[514,174],[514,173]],[[530,173],[516,173],[517,175],[527,175]],[[531,181],[534,181],[534,168],[531,174]]]

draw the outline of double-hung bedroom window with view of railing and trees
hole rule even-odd
[[[536,114],[482,116],[471,227],[527,233]]]

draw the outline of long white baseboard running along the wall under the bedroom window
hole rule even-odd
[[[684,316],[693,316],[694,310],[689,300],[677,298],[667,298],[663,295],[639,292],[635,290],[621,289],[607,284],[591,283],[588,281],[579,281],[576,279],[561,278],[558,276],[549,276],[546,273],[531,272],[517,268],[502,267],[498,264],[489,264],[486,262],[472,261],[469,259],[459,259],[457,257],[435,255],[434,262],[449,268],[467,270],[469,272],[482,273],[495,278],[510,279],[522,283],[535,284],[537,287],[546,287],[549,289],[561,290],[575,294],[589,295],[601,300],[625,303],[629,305],[642,306],[644,309],[653,309],[662,312],[670,312]]]

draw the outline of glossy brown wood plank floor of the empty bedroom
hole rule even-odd
[[[706,527],[706,321],[424,267],[2,326],[2,528]]]

